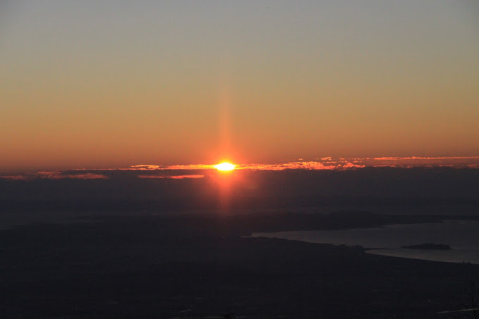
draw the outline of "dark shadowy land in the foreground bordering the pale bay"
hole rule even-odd
[[[1,230],[0,313],[6,318],[201,318],[229,311],[243,318],[456,318],[439,311],[470,306],[466,290],[473,287],[471,278],[479,278],[475,265],[241,237],[313,223],[311,215],[296,215],[298,225],[291,226],[288,216],[99,218]],[[358,227],[388,222],[362,216]],[[322,218],[333,220],[328,227],[354,227],[348,213]]]

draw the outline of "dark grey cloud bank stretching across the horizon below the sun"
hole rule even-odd
[[[22,176],[0,179],[2,208],[162,213],[225,208],[222,203],[231,209],[479,203],[479,170],[475,168],[236,170],[227,174],[216,170],[73,170]]]

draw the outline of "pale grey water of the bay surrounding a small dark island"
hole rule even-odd
[[[253,237],[273,237],[303,242],[363,246],[368,253],[452,263],[479,264],[479,221],[445,220],[442,223],[387,225],[352,230],[258,232]],[[404,249],[413,244],[448,244],[451,250]]]

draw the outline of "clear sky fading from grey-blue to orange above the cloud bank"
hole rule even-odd
[[[0,168],[479,155],[479,2],[2,1]]]

